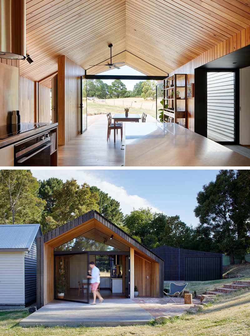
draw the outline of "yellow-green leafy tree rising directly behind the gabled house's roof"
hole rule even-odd
[[[52,207],[50,216],[44,218],[43,233],[58,227],[90,210],[98,210],[99,197],[97,193],[90,192],[90,186],[83,183],[79,186],[75,179],[67,180],[62,188],[53,192],[57,200]]]

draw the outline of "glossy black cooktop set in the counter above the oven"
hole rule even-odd
[[[46,126],[45,123],[20,123],[0,126],[0,139],[6,139],[10,136],[31,131],[42,126]]]

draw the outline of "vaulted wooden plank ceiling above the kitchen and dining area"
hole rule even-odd
[[[163,75],[248,27],[250,0],[27,0],[26,14],[34,64],[20,61],[21,76],[55,73],[60,55],[84,69],[104,64],[109,43],[115,61]]]

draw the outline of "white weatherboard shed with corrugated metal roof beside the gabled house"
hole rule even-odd
[[[36,301],[36,238],[40,224],[0,225],[0,309]]]

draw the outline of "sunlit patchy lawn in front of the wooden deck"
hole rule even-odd
[[[248,336],[250,334],[250,290],[219,296],[197,314],[187,314],[163,325],[153,323],[128,327],[51,327],[22,328],[19,320],[26,311],[0,313],[0,336]]]

